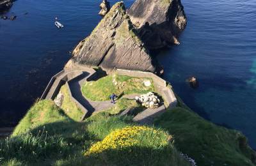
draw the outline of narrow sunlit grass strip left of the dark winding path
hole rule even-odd
[[[64,110],[65,114],[69,116],[74,121],[80,121],[83,116],[83,111],[77,107],[76,103],[74,103],[69,95],[67,84],[63,85],[60,89],[61,93],[64,96],[63,103],[61,105],[61,109]]]

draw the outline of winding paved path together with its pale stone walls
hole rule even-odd
[[[154,117],[162,114],[164,111],[166,111],[166,108],[172,109],[177,105],[177,99],[172,91],[172,87],[167,86],[166,81],[160,77],[157,77],[157,75],[154,75],[154,73],[119,69],[115,72],[119,75],[128,75],[131,77],[152,78],[154,80],[156,92],[164,98],[164,105],[161,105],[161,107],[157,109],[144,110],[134,117],[134,121],[138,123],[150,124],[154,120]],[[83,121],[85,117],[92,115],[93,112],[111,109],[114,104],[110,101],[91,101],[88,100],[88,98],[85,98],[81,92],[81,86],[83,86],[87,80],[92,80],[95,75],[97,75],[95,70],[92,68],[86,68],[84,66],[74,66],[74,68],[69,70],[62,70],[60,73],[52,77],[44,93],[42,94],[41,99],[53,100],[60,91],[60,87],[64,84],[64,82],[67,82],[70,97],[84,112],[84,116],[81,117],[81,121]],[[129,94],[122,96],[122,98],[134,99],[135,96],[138,96],[138,94]]]

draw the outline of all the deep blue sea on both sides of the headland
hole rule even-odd
[[[0,126],[16,124],[40,97],[69,52],[97,26],[100,2],[15,1],[6,15],[17,20],[0,20]],[[256,1],[182,3],[188,26],[181,45],[158,56],[164,78],[191,109],[240,130],[256,148]],[[56,29],[54,17],[64,29]],[[186,82],[191,75],[198,89]]]

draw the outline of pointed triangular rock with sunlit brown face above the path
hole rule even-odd
[[[74,63],[156,72],[152,57],[134,31],[122,2],[116,3],[90,36],[77,45],[66,68]]]

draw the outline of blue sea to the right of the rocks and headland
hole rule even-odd
[[[256,148],[256,1],[182,1],[181,45],[159,56],[164,77],[201,116],[242,131]],[[195,75],[198,89],[186,83]]]

